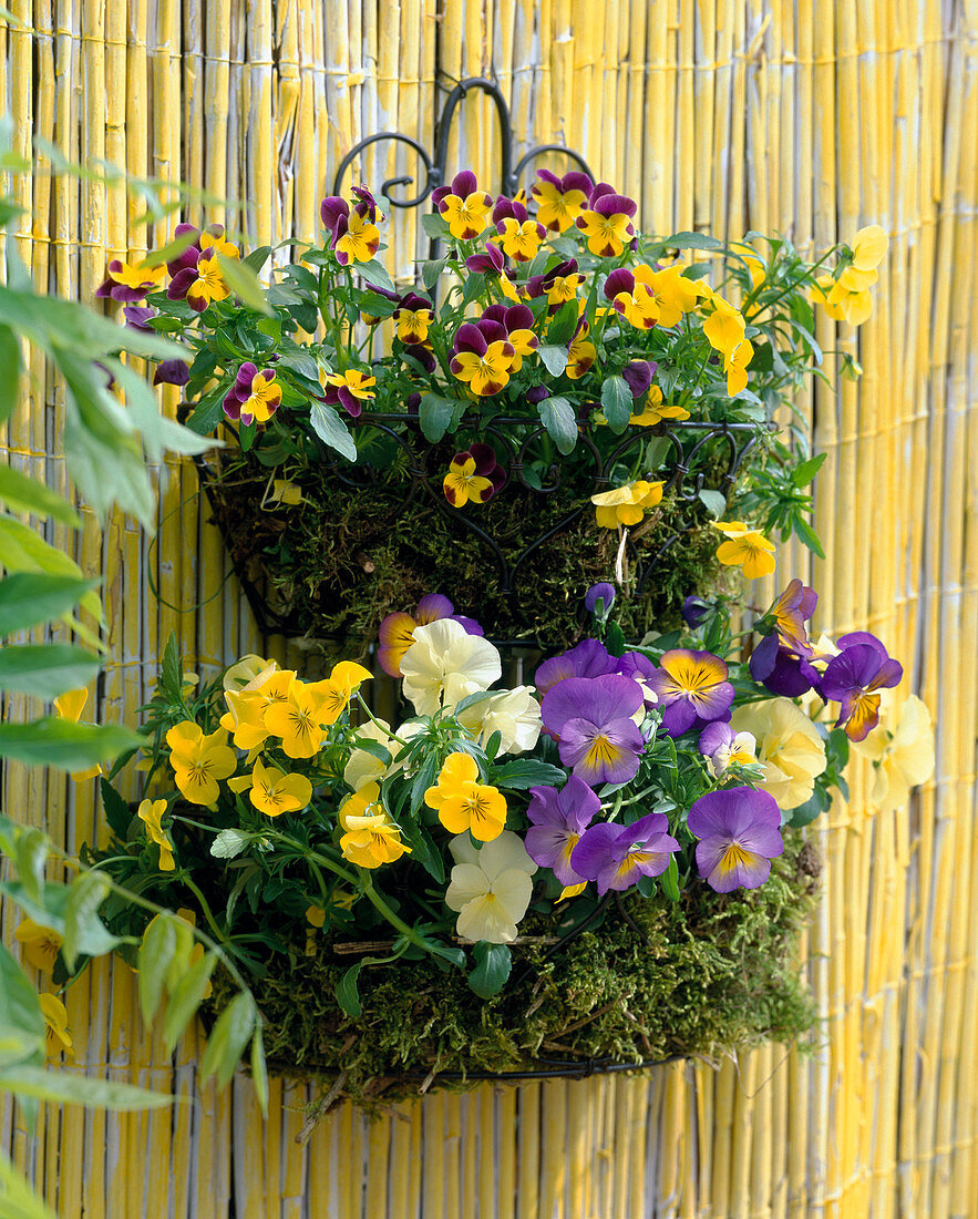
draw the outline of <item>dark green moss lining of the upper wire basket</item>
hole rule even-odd
[[[297,479],[302,503],[256,513],[267,480],[267,469],[235,458],[212,486],[216,518],[239,569],[262,583],[273,608],[312,638],[370,638],[392,610],[442,592],[493,638],[563,647],[583,634],[585,590],[614,579],[617,533],[597,527],[583,484],[553,495],[509,485],[488,503],[463,510],[512,566],[535,539],[587,505],[518,563],[508,586],[485,540],[424,491],[410,496],[407,482],[351,491],[309,471]],[[717,585],[717,534],[702,506],[667,497],[631,530],[631,542],[648,557],[677,533],[643,595],[627,585],[620,595],[616,612],[627,639],[671,629],[688,594]]]

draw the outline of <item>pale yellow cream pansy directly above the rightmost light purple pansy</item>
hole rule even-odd
[[[734,733],[750,733],[764,766],[761,791],[783,809],[811,800],[815,779],[826,768],[822,737],[809,717],[790,698],[771,698],[738,707],[731,717]]]

